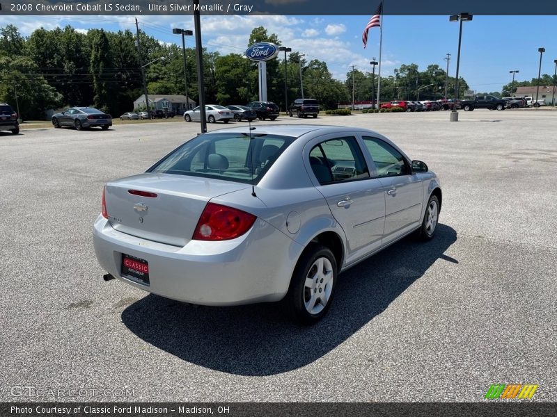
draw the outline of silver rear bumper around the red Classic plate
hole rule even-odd
[[[93,244],[100,265],[113,277],[173,300],[212,306],[281,300],[304,249],[260,219],[240,238],[175,247],[123,234],[99,216]],[[148,261],[149,286],[122,275],[122,254]]]

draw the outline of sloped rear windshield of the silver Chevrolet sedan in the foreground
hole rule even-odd
[[[147,172],[191,175],[258,183],[284,150],[291,136],[252,133],[200,135],[165,156]]]

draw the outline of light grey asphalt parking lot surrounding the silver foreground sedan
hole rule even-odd
[[[102,280],[91,229],[103,184],[198,124],[0,133],[0,401],[473,402],[494,383],[539,384],[533,400],[557,401],[557,112],[448,119],[272,122],[375,129],[444,190],[437,236],[345,272],[313,327],[274,304],[194,307]]]

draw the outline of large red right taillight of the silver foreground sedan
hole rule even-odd
[[[256,216],[237,208],[207,203],[194,231],[194,240],[229,240],[242,236]]]

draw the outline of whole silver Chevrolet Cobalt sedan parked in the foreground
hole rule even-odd
[[[379,133],[235,127],[107,183],[93,240],[105,279],[194,304],[283,300],[311,323],[340,272],[412,232],[432,238],[440,209],[436,174]]]

